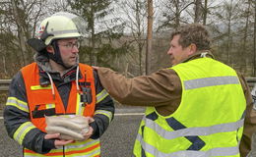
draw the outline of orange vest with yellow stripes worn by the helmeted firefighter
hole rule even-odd
[[[95,115],[96,107],[96,89],[93,69],[87,65],[79,64],[80,72],[83,78],[79,79],[80,90],[81,87],[90,88],[92,95],[91,103],[81,102],[81,93],[76,87],[76,82],[72,81],[69,101],[67,109],[65,110],[61,97],[54,83],[49,86],[40,86],[38,67],[35,63],[26,66],[22,69],[22,75],[26,84],[26,91],[28,97],[28,104],[30,108],[30,115],[32,125],[41,131],[45,131],[45,118],[44,116],[55,115]],[[54,89],[54,94],[52,92]],[[85,94],[85,93],[84,93]],[[28,127],[27,127],[28,128]],[[29,130],[29,128],[28,128]],[[26,128],[24,131],[26,132]],[[52,149],[49,153],[41,155],[29,150],[24,149],[24,155],[29,156],[99,156],[100,147],[99,140],[89,139],[86,141],[76,141],[58,149]]]

